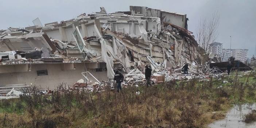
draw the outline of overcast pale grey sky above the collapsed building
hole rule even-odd
[[[44,23],[68,20],[81,13],[100,11],[129,11],[129,5],[147,6],[171,12],[186,13],[189,30],[196,33],[198,21],[220,13],[217,42],[232,49],[248,49],[249,57],[256,46],[256,0],[2,0],[0,3],[0,30],[7,27],[33,26],[39,18]]]

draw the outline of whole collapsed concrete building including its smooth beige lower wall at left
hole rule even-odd
[[[61,82],[74,84],[82,72],[100,82],[112,79],[115,67],[143,79],[146,63],[155,75],[170,75],[185,63],[194,67],[190,73],[202,73],[196,69],[201,54],[187,20],[185,14],[147,7],[114,13],[101,7],[60,23],[0,30],[0,85],[53,89]]]

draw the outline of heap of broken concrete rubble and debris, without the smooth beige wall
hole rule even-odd
[[[0,51],[5,51],[0,53],[0,66],[27,64],[25,71],[29,71],[31,65],[39,63],[92,63],[90,68],[106,70],[105,80],[114,78],[115,67],[121,70],[125,74],[124,86],[143,84],[147,63],[154,83],[203,79],[219,73],[216,67],[210,69],[209,63],[200,64],[204,53],[198,52],[200,47],[193,32],[187,30],[187,20],[186,14],[134,6],[128,12],[114,13],[101,7],[100,12],[44,26],[37,18],[35,26],[0,30]],[[212,54],[210,57],[218,60]],[[181,72],[186,63],[190,75]],[[89,75],[93,81],[83,74],[84,79],[75,82],[74,87],[101,88],[98,77]]]

